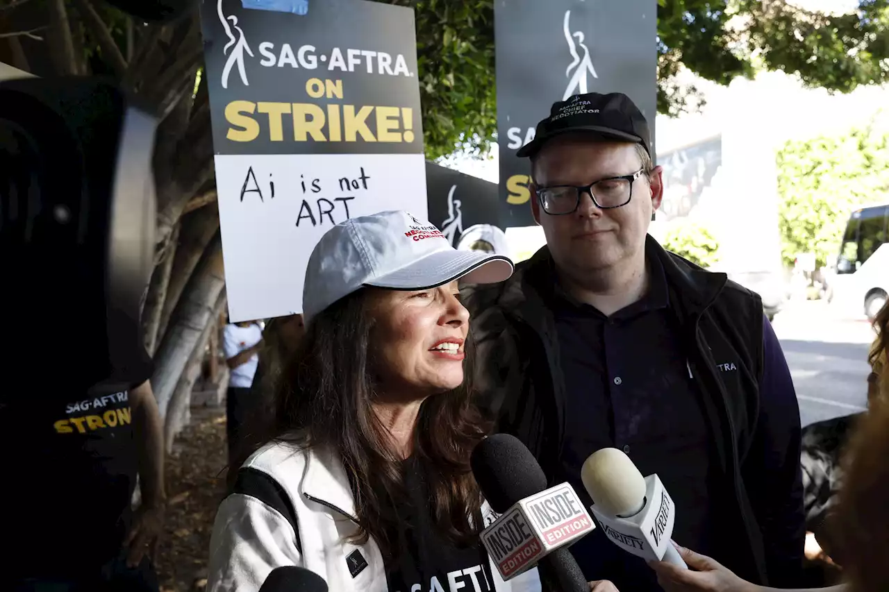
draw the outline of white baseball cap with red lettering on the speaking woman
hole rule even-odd
[[[433,224],[408,212],[379,212],[340,222],[315,245],[302,287],[303,321],[364,286],[425,290],[464,276],[493,284],[511,275],[508,257],[457,251]]]

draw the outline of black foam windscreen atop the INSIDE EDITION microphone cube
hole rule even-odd
[[[485,500],[499,514],[547,488],[547,477],[537,459],[509,434],[494,434],[476,444],[469,466]]]

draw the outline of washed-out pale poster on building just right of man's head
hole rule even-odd
[[[722,135],[659,153],[658,164],[664,180],[659,219],[685,218],[699,205],[709,210],[710,200],[718,198],[713,184],[722,167]]]

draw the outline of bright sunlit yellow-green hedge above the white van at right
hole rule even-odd
[[[816,265],[837,257],[849,213],[885,201],[889,136],[853,129],[788,142],[778,153],[781,255],[792,263],[814,252]]]

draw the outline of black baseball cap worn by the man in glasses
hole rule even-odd
[[[651,133],[642,111],[622,92],[575,94],[553,103],[549,117],[537,124],[534,139],[518,149],[516,156],[534,156],[559,134],[595,132],[607,140],[642,144],[651,156]]]

